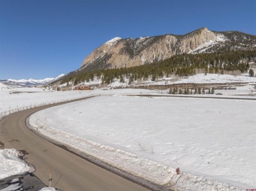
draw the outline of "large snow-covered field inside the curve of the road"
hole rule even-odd
[[[39,111],[30,122],[40,133],[158,184],[176,181],[173,171],[180,167],[188,177],[245,189],[256,186],[255,107],[254,100],[95,97]],[[202,179],[188,177],[179,179],[179,189],[194,189],[184,182]]]

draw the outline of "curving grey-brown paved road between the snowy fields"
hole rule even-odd
[[[75,101],[83,99],[86,98]],[[36,107],[3,118],[0,122],[0,139],[5,148],[25,150],[28,153],[26,162],[35,165],[35,175],[45,184],[49,184],[49,171],[52,168],[51,186],[62,190],[147,190],[46,141],[26,127],[25,121],[30,114],[64,103]]]

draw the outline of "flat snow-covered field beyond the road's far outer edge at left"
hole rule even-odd
[[[44,88],[10,88],[0,83],[0,118],[16,111],[22,111],[31,107],[49,105],[61,101],[78,99],[93,95],[113,95],[113,94],[140,94],[153,93],[157,91],[121,89],[121,90],[93,90],[93,91],[67,91],[50,92]],[[13,94],[13,92],[20,92]],[[30,92],[30,93],[29,93]],[[33,92],[33,93],[31,93]]]

